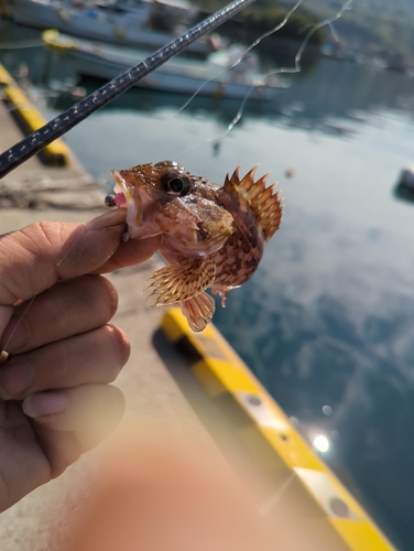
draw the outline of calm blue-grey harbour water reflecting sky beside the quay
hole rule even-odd
[[[29,65],[47,117],[73,102],[42,50],[0,61],[14,74]],[[65,139],[107,181],[164,159],[216,183],[240,163],[280,181],[281,229],[215,323],[305,437],[329,440],[324,460],[411,550],[414,203],[397,183],[414,162],[414,79],[318,58],[290,82],[271,102],[248,102],[221,139],[238,102],[196,98],[177,112],[187,98],[137,89]]]

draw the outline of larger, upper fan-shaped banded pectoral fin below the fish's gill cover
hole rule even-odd
[[[154,306],[167,306],[192,299],[207,289],[216,277],[211,257],[196,258],[179,266],[165,266],[150,278],[149,296],[156,295]]]

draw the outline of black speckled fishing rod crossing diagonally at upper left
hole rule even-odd
[[[179,54],[189,44],[195,42],[204,34],[214,31],[221,23],[232,18],[254,0],[236,0],[209,18],[205,19],[196,26],[185,32],[173,42],[157,50],[154,54],[146,57],[145,61],[131,67],[122,75],[117,76],[110,83],[94,91],[85,99],[58,115],[42,128],[31,133],[19,143],[0,154],[0,179],[22,164],[24,161],[39,153],[51,142],[66,133],[92,112],[106,106],[112,99],[131,88],[141,78],[152,73],[156,67],[168,61],[174,55]]]

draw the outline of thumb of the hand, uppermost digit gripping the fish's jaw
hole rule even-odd
[[[18,300],[102,266],[124,231],[117,209],[87,224],[41,222],[0,237],[0,335]]]

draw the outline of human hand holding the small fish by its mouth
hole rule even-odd
[[[117,292],[100,273],[151,257],[159,238],[121,242],[121,210],[0,236],[0,511],[97,445],[119,423],[110,386],[129,357],[108,325]],[[1,365],[1,360],[0,360]]]

